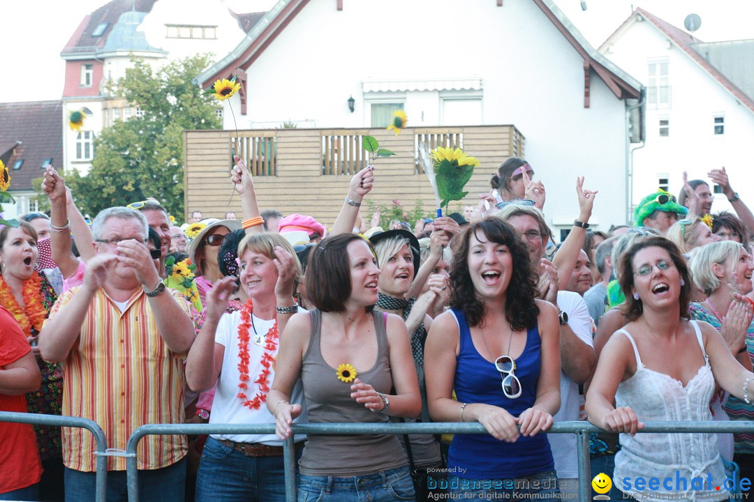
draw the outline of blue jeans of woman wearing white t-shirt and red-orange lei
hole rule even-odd
[[[296,460],[302,449],[296,452]],[[207,438],[196,475],[196,502],[285,502],[283,455],[247,457]]]

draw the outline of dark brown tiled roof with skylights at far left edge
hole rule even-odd
[[[31,190],[32,179],[41,178],[45,159],[54,156],[53,166],[63,166],[63,145],[60,143],[63,138],[63,102],[0,103],[0,117],[3,117],[0,120],[0,155],[11,172],[11,191]],[[22,159],[21,169],[14,170],[16,161]]]

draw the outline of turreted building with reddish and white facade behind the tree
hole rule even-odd
[[[142,113],[108,89],[134,56],[162,65],[196,53],[222,55],[262,14],[236,14],[221,0],[112,0],[84,17],[60,53],[66,60],[63,165],[88,172],[95,136]],[[88,117],[81,131],[73,131],[69,113],[79,109]]]

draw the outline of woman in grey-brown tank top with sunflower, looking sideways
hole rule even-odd
[[[290,436],[301,412],[288,403],[299,378],[311,423],[386,423],[388,415],[415,418],[421,411],[406,324],[372,312],[378,278],[373,250],[360,236],[328,237],[311,252],[307,296],[317,310],[293,315],[280,336],[267,400],[278,437]],[[393,435],[310,435],[299,500],[413,500],[407,464]]]

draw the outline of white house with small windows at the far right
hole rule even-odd
[[[725,166],[754,202],[754,41],[705,44],[637,8],[599,47],[646,86],[646,140],[633,153],[633,197],[663,187],[679,193],[682,173],[705,179]],[[711,183],[711,182],[710,182]],[[730,210],[721,193],[713,211]]]

